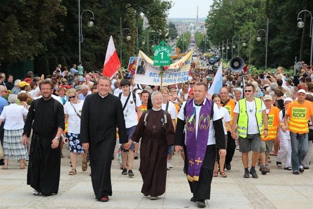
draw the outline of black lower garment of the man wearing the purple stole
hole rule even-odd
[[[186,145],[183,145],[185,152],[185,168],[188,175],[188,156]],[[216,158],[216,145],[208,145],[206,147],[205,156],[201,165],[199,181],[190,182],[188,180],[190,191],[193,193],[194,201],[209,200],[211,194],[211,182],[214,172],[214,164]]]

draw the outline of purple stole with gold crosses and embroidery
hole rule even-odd
[[[186,148],[188,155],[188,175],[191,182],[199,181],[201,165],[205,156],[209,136],[211,101],[205,98],[205,104],[194,107],[194,99],[186,103]],[[196,118],[196,109],[201,108],[199,118]],[[196,136],[196,120],[199,121]]]

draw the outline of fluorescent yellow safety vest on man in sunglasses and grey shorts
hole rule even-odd
[[[262,100],[259,98],[254,98],[256,105],[256,121],[258,124],[259,132],[262,134]],[[246,112],[246,98],[239,100],[239,117],[237,123],[238,135],[242,138],[246,138],[248,132],[248,115]]]

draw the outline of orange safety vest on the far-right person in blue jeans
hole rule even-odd
[[[313,115],[313,103],[308,100],[303,104],[294,101],[286,108],[286,114],[289,115],[288,130],[297,134],[309,133],[308,120]]]

